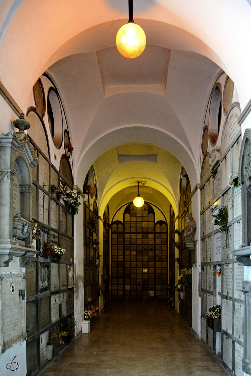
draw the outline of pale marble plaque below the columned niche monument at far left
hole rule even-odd
[[[2,338],[7,346],[24,333],[25,302],[19,296],[24,288],[23,274],[5,276],[1,285]]]

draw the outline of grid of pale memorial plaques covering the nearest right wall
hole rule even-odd
[[[232,112],[234,111],[231,110]],[[223,129],[221,157],[211,178],[209,156],[201,170],[201,338],[221,356],[222,362],[237,376],[243,376],[243,294],[244,267],[235,261],[231,250],[242,243],[240,188],[229,188],[231,171],[238,172],[241,146],[240,129],[231,121],[231,111]],[[225,203],[228,207],[229,241],[226,233],[212,223],[210,209]],[[216,274],[221,271],[221,276]],[[221,305],[221,332],[207,326],[207,310]]]

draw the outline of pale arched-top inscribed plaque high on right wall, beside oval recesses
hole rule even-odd
[[[222,132],[222,141],[221,141],[221,155],[223,155],[228,146],[233,142],[237,133],[240,130],[238,126],[238,117],[240,116],[240,110],[237,107],[231,109],[228,114],[227,119],[225,120],[225,127]]]

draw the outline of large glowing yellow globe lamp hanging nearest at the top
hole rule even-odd
[[[116,36],[117,49],[125,58],[137,58],[146,47],[144,30],[135,23],[127,23],[120,27]]]

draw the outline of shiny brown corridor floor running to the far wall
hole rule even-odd
[[[223,376],[219,359],[165,303],[110,303],[39,376]]]

